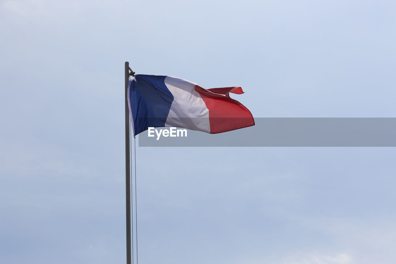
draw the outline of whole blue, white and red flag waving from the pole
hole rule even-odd
[[[133,134],[161,126],[211,134],[253,126],[250,111],[229,93],[244,92],[240,87],[204,89],[170,76],[135,75],[128,84]]]

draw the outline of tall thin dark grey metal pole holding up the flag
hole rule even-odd
[[[131,264],[131,168],[129,166],[129,62],[125,62],[125,198],[126,198],[126,263]]]

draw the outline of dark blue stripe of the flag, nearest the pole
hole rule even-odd
[[[165,126],[173,102],[165,78],[166,76],[139,74],[131,80],[129,95],[135,135],[148,127]]]

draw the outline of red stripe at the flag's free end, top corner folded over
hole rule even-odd
[[[210,133],[216,134],[253,126],[254,120],[250,111],[240,102],[230,98],[229,93],[243,94],[240,87],[204,89],[199,85],[195,90],[209,109]]]

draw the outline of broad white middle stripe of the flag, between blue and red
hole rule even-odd
[[[173,95],[166,126],[177,126],[210,133],[209,110],[194,82],[167,76],[165,85]]]

